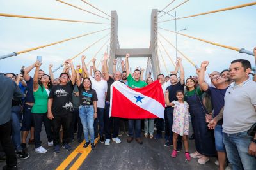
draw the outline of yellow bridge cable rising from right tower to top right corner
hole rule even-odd
[[[256,4],[256,2],[240,4],[240,5],[237,5],[237,6],[231,6],[231,7],[228,7],[228,8],[222,8],[220,10],[214,10],[214,11],[209,11],[209,12],[204,12],[204,13],[198,13],[198,14],[195,14],[195,15],[189,15],[187,17],[180,17],[180,18],[176,18],[176,20],[183,19],[183,18],[196,17],[196,16],[200,16],[200,15],[206,15],[206,14],[209,14],[209,13],[217,13],[217,12],[221,12],[221,11],[234,10],[234,9],[237,9],[237,8],[243,8],[243,7],[252,6],[252,5],[255,5],[255,4]],[[171,20],[175,20],[175,19],[171,19]],[[168,21],[171,21],[171,20],[163,20],[163,21],[160,21],[158,23],[168,22]]]

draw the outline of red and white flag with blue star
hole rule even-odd
[[[164,94],[159,81],[134,89],[115,81],[111,85],[110,95],[109,117],[164,118]]]

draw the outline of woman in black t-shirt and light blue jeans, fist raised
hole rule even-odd
[[[83,125],[84,138],[86,141],[83,147],[87,148],[87,146],[91,143],[92,150],[95,150],[93,122],[94,119],[97,118],[98,98],[96,91],[92,89],[92,82],[90,78],[84,78],[82,85],[79,81],[80,75],[77,74],[77,86],[79,87],[81,103],[79,107],[79,117]]]

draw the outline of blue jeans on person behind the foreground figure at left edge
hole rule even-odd
[[[15,144],[17,152],[22,151],[20,146],[20,106],[12,106],[12,141]]]

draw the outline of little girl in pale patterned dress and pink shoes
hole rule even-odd
[[[183,101],[184,99],[184,92],[182,90],[177,90],[176,97],[178,101],[169,101],[169,92],[166,90],[165,92],[165,101],[167,106],[173,106],[173,124],[172,124],[172,131],[173,131],[173,151],[172,157],[177,157],[177,138],[178,136],[182,136],[182,140],[184,142],[185,147],[185,158],[186,160],[190,161],[191,157],[188,153],[188,103]]]

